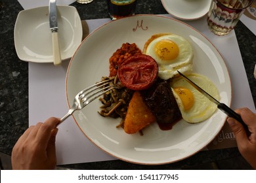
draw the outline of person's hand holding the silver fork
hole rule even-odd
[[[12,169],[54,169],[58,118],[30,126],[12,149]]]

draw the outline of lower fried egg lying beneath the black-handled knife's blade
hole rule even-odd
[[[186,76],[219,101],[219,91],[209,78],[195,73]],[[186,122],[194,124],[207,120],[217,109],[215,103],[198,92],[184,78],[173,79],[171,90]]]

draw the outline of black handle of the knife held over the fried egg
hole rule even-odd
[[[228,117],[234,118],[235,120],[237,120],[238,122],[240,122],[240,124],[243,125],[247,135],[251,135],[251,132],[248,129],[248,126],[244,123],[244,121],[242,120],[241,116],[234,112],[234,110],[232,110],[231,108],[229,108],[227,105],[225,105],[224,103],[220,103],[218,105],[218,108],[220,110],[222,110],[226,115],[228,115]]]

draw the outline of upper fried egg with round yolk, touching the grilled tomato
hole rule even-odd
[[[152,36],[154,37],[154,36]],[[151,56],[158,63],[158,76],[164,80],[182,73],[192,72],[194,52],[190,42],[179,35],[163,35],[151,39],[145,54]]]

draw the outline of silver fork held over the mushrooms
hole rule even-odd
[[[66,120],[66,118],[72,115],[73,112],[75,112],[75,110],[80,110],[84,108],[89,103],[94,101],[96,98],[100,97],[100,95],[103,95],[104,93],[114,89],[115,88],[114,85],[106,86],[110,84],[110,82],[111,80],[104,80],[102,82],[98,82],[94,84],[93,86],[85,88],[81,92],[77,93],[77,95],[75,95],[75,99],[72,107],[70,108],[70,110],[68,110],[68,113],[63,118],[60,119],[60,122],[58,123],[58,125],[60,125],[62,122],[64,122],[64,120]]]

